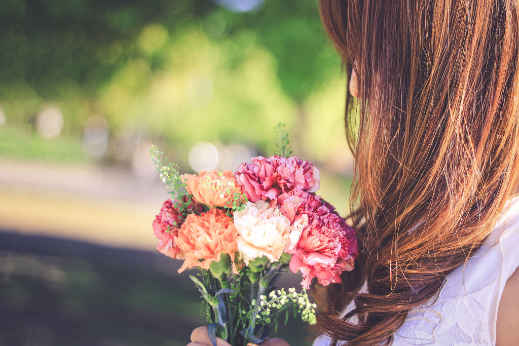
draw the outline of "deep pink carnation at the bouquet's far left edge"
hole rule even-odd
[[[184,202],[187,201],[187,196],[184,196]],[[172,258],[182,259],[184,258],[184,254],[179,247],[176,246],[173,239],[176,237],[185,217],[173,204],[174,201],[171,199],[166,200],[162,204],[160,212],[155,216],[155,220],[153,220],[153,232],[155,233],[155,237],[159,239],[157,251]],[[202,206],[192,201],[188,206],[188,212],[201,213]]]

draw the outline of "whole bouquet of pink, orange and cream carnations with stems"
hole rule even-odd
[[[291,156],[280,124],[280,155],[258,156],[235,172],[181,174],[163,152],[151,154],[171,199],[153,222],[157,250],[183,259],[207,306],[209,337],[233,345],[258,343],[289,312],[316,322],[306,289],[340,282],[357,256],[354,231],[315,194],[319,170]],[[301,271],[302,289],[278,288],[283,271]]]

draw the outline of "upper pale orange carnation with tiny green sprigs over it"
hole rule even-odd
[[[233,193],[241,195],[241,187],[238,185],[234,173],[201,170],[196,174],[183,174],[182,180],[186,180],[187,191],[193,195],[193,199],[209,207],[230,207],[233,203]]]

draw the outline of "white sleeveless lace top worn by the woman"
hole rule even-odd
[[[392,345],[495,345],[499,300],[518,266],[519,196],[507,201],[490,236],[466,265],[447,275],[427,303],[409,311]],[[329,344],[325,336],[313,342]]]

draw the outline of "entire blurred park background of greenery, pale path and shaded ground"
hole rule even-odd
[[[0,344],[186,344],[203,315],[154,252],[149,147],[234,170],[283,122],[344,216],[346,92],[317,0],[1,1]]]

